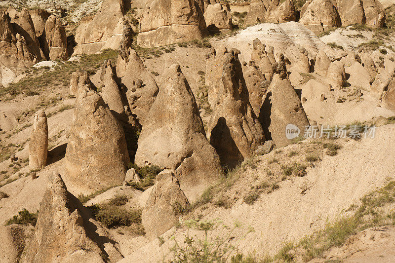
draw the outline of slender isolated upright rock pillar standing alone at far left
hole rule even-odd
[[[48,154],[48,124],[44,111],[34,116],[32,134],[29,141],[29,165],[32,169],[42,169]]]

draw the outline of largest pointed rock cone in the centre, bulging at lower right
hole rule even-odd
[[[175,171],[181,189],[194,200],[217,180],[220,162],[206,139],[192,90],[179,65],[164,74],[164,85],[146,117],[135,163]]]

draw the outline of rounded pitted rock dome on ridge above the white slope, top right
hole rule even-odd
[[[316,35],[332,27],[340,27],[340,16],[331,0],[308,0],[300,12],[299,23]]]

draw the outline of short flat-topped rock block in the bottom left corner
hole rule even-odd
[[[0,226],[0,262],[19,263],[26,236],[29,234],[24,225],[2,225]],[[26,232],[25,232],[26,231]]]

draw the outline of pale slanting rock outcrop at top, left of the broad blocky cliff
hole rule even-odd
[[[122,38],[125,14],[123,0],[104,0],[93,18],[81,20],[76,32],[74,54],[94,54],[111,48],[118,49]]]

